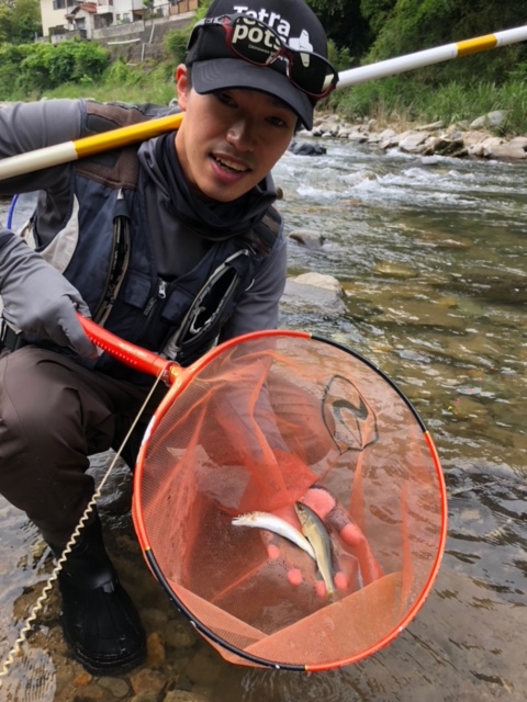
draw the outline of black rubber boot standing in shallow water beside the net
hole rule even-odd
[[[61,550],[52,550],[56,557],[61,555]],[[58,574],[58,584],[64,637],[88,672],[120,675],[143,663],[145,632],[105,552],[97,514],[82,528]]]

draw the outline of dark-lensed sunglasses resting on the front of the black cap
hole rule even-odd
[[[285,59],[290,82],[310,98],[325,98],[338,82],[338,72],[323,56],[291,48],[274,30],[246,14],[200,20],[192,30],[187,48],[191,48],[200,29],[211,25],[223,26],[228,48],[248,64],[266,68],[278,58]]]

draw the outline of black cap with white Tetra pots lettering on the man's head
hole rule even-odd
[[[215,0],[205,16],[238,13],[264,22],[292,48],[301,47],[327,58],[326,34],[304,0]],[[227,46],[223,27],[208,25],[206,30],[199,30],[186,63],[192,66],[192,86],[197,92],[204,94],[236,88],[261,90],[282,100],[307,129],[313,127],[316,101],[291,83],[284,61],[277,60],[261,68],[237,58]]]

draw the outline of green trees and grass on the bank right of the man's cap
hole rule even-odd
[[[527,25],[527,0],[307,0],[339,70]],[[471,122],[503,110],[501,131],[527,133],[527,42],[336,92],[346,116]]]

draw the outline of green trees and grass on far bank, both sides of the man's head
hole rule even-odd
[[[527,0],[306,0],[340,71],[527,25]],[[210,0],[200,3],[199,15]],[[198,15],[198,16],[199,16]],[[35,44],[38,0],[0,0],[0,101],[75,97],[170,100],[190,27],[173,32],[164,63],[112,61],[96,42]],[[69,46],[67,46],[69,45]],[[379,120],[470,121],[504,110],[502,129],[527,133],[527,42],[337,90],[323,107]],[[136,97],[137,95],[137,97]]]

